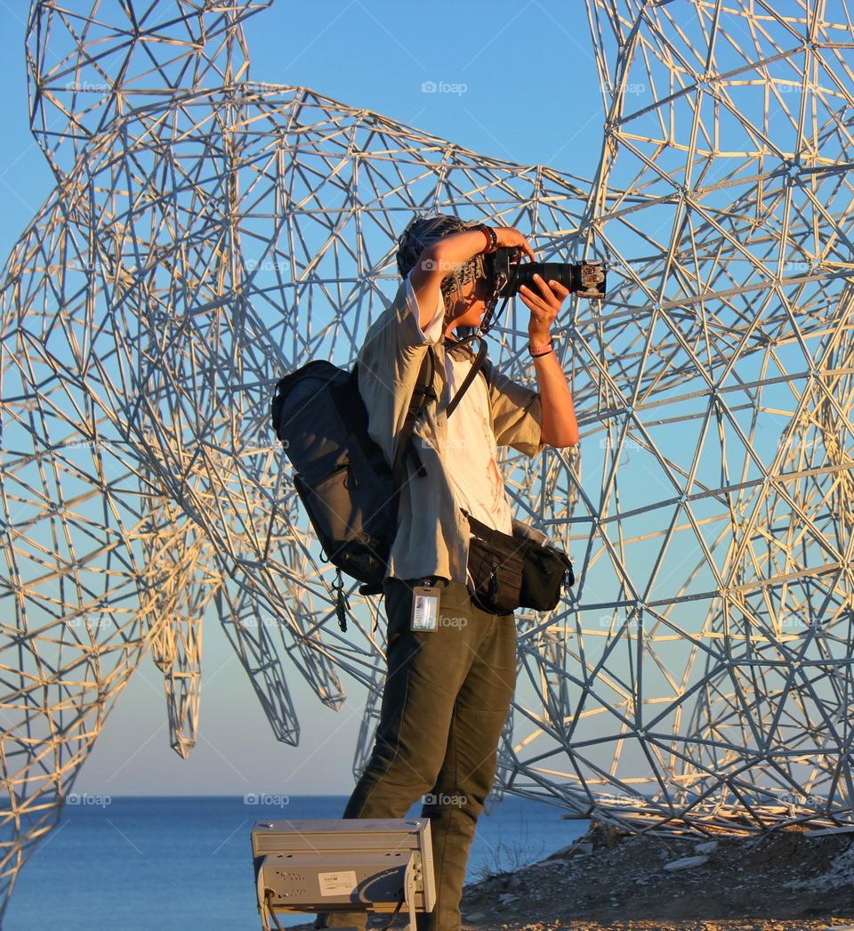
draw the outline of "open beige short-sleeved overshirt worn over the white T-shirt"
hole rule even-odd
[[[371,325],[356,357],[359,391],[367,407],[367,432],[390,465],[428,344],[429,339],[425,339],[407,304],[406,281],[401,281],[394,301]],[[448,449],[445,410],[451,397],[445,346],[441,339],[433,345],[433,386],[439,403],[427,406],[412,434],[426,475],[417,475],[407,458],[397,534],[386,577],[438,575],[464,585],[470,534],[447,477],[445,459],[453,455],[453,450]],[[491,427],[496,443],[512,446],[528,456],[537,455],[545,446],[540,439],[539,393],[496,371],[488,358],[484,368],[488,370]]]

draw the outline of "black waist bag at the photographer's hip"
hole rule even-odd
[[[575,584],[572,560],[563,550],[536,539],[527,525],[514,521],[511,535],[487,527],[465,509],[463,514],[473,533],[468,558],[471,597],[483,611],[552,611],[564,589]]]

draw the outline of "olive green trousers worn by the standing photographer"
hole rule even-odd
[[[437,630],[411,630],[412,587],[388,579],[387,673],[376,743],[342,817],[405,817],[421,799],[430,818],[436,904],[418,931],[460,931],[460,898],[474,827],[495,777],[513,698],[513,614],[487,614],[444,579]],[[386,916],[387,918],[388,916]],[[366,912],[324,912],[316,928],[365,928]]]

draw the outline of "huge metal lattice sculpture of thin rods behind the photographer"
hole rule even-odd
[[[252,84],[268,5],[33,2],[57,187],[2,291],[4,901],[148,647],[191,752],[206,613],[276,739],[288,673],[332,708],[340,670],[363,683],[366,762],[378,604],[348,588],[340,631],[268,407],[283,371],[352,361],[421,209],[611,268],[558,331],[580,446],[504,463],[580,581],[518,615],[497,791],[630,830],[850,827],[847,5],[588,0],[592,182]],[[526,324],[490,356],[533,384]]]

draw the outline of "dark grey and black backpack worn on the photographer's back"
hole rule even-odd
[[[447,407],[447,416],[460,402],[483,366],[483,342],[460,390]],[[397,509],[405,460],[416,474],[424,466],[410,442],[415,422],[437,400],[434,389],[434,348],[428,344],[409,400],[407,417],[397,439],[390,467],[380,446],[368,436],[367,408],[358,388],[358,365],[347,371],[315,359],[276,383],[271,420],[278,439],[294,466],[294,486],[327,560],[337,569],[333,589],[341,630],[346,630],[340,573],[363,585],[360,594],[376,595],[388,566],[397,532]]]

